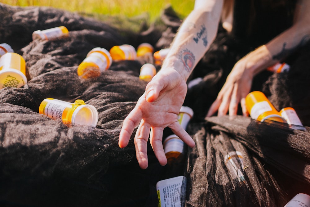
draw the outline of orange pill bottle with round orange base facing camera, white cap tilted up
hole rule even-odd
[[[111,64],[110,53],[104,48],[95,47],[78,66],[78,76],[83,79],[98,77],[101,72],[108,70]]]

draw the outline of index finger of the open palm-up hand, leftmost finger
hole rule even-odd
[[[135,127],[139,124],[142,119],[142,111],[139,107],[135,108],[127,115],[125,118],[121,132],[119,133],[118,146],[123,148],[128,145],[131,134],[133,133]]]

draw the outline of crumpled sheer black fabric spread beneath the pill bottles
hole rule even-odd
[[[138,32],[53,8],[0,4],[0,11],[0,42],[24,57],[28,78],[22,88],[0,90],[0,205],[157,206],[156,182],[178,175],[188,180],[187,206],[284,206],[297,193],[310,195],[309,46],[287,59],[288,73],[263,72],[252,88],[263,91],[278,110],[293,107],[306,131],[240,115],[205,120],[233,64],[250,49],[219,28],[189,79],[203,80],[188,89],[184,101],[194,110],[188,132],[196,147],[187,150],[184,162],[160,166],[148,144],[149,166],[141,170],[133,139],[124,149],[117,143],[123,119],[147,84],[139,79],[145,60],[113,62],[88,80],[79,79],[77,68],[94,47],[143,42],[156,50],[169,47],[181,24],[171,8],[161,24]],[[68,38],[31,38],[35,30],[61,25],[69,29]],[[48,97],[95,106],[97,126],[68,127],[39,114]],[[236,151],[243,157],[238,173],[225,161]]]

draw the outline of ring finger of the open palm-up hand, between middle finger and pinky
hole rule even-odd
[[[150,133],[150,143],[159,164],[164,166],[167,164],[167,158],[162,146],[162,132],[163,128],[152,127]]]

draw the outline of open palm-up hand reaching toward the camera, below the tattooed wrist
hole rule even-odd
[[[131,134],[139,124],[135,134],[135,149],[139,165],[148,167],[147,141],[161,165],[167,163],[162,146],[163,130],[169,127],[175,135],[188,146],[194,147],[195,142],[178,122],[179,110],[184,102],[187,85],[175,70],[161,70],[146,86],[144,94],[139,98],[135,108],[123,122],[118,145],[127,146]]]

